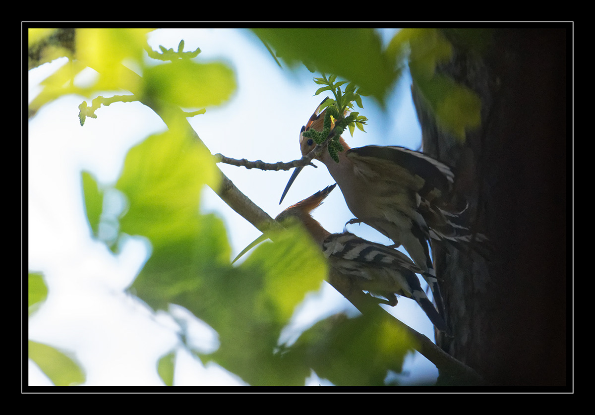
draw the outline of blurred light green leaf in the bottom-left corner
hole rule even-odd
[[[35,361],[56,386],[75,386],[85,381],[79,364],[54,347],[29,340],[29,359]]]

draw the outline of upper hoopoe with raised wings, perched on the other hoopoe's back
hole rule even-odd
[[[304,156],[316,143],[303,133],[311,128],[322,130],[326,111],[319,114],[322,103],[300,131],[300,149]],[[315,159],[327,166],[347,207],[357,218],[347,223],[364,222],[377,229],[393,240],[394,246],[402,245],[425,275],[436,276],[429,251],[430,240],[449,241],[457,246],[473,236],[458,220],[461,212],[453,212],[446,202],[445,196],[452,190],[454,181],[452,170],[424,153],[405,147],[350,148],[343,137],[339,142],[345,151],[337,153],[338,163],[325,149]],[[302,169],[295,169],[279,203]],[[441,309],[437,281],[426,279]]]

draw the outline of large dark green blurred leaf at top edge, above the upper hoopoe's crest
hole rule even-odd
[[[387,55],[374,29],[253,29],[290,67],[298,62],[321,73],[352,81],[365,95],[384,103],[400,75],[394,55]]]

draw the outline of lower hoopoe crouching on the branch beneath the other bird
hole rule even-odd
[[[384,245],[367,241],[349,232],[331,234],[311,215],[312,210],[322,204],[336,184],[318,191],[312,196],[283,210],[275,221],[283,222],[295,218],[306,228],[309,235],[321,247],[328,260],[329,272],[348,278],[350,287],[367,291],[375,296],[386,298],[386,304],[395,306],[397,295],[417,301],[430,321],[440,331],[447,331],[446,323],[434,304],[422,290],[417,273],[424,275],[408,256]],[[264,235],[246,247],[237,257],[242,256]],[[235,260],[234,260],[235,261]],[[428,276],[433,278],[433,276]]]

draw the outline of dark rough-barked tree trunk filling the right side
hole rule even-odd
[[[482,123],[457,143],[414,85],[424,150],[455,167],[494,251],[434,247],[453,330],[437,342],[490,385],[567,385],[566,29],[494,30],[481,54],[444,34],[455,52],[437,70],[478,93]]]

